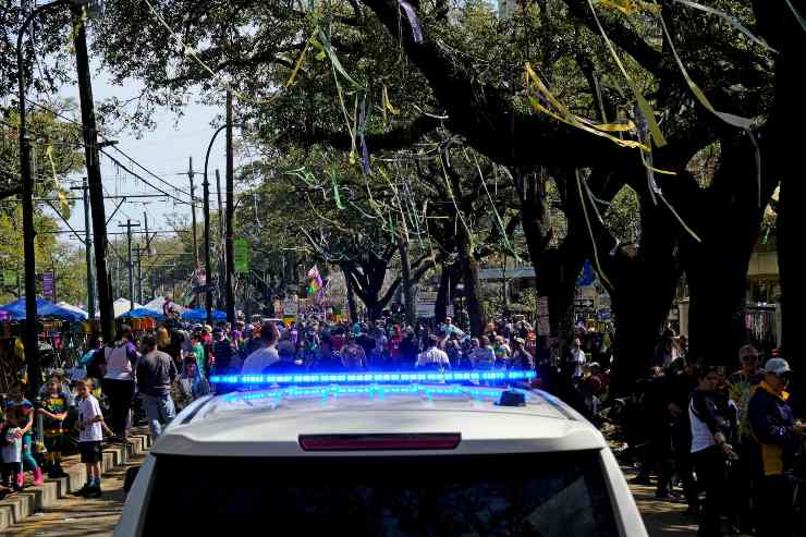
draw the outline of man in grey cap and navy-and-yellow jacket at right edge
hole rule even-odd
[[[790,537],[796,530],[792,469],[804,425],[795,420],[792,407],[786,403],[786,385],[792,378],[790,364],[781,357],[770,358],[764,373],[764,380],[747,407],[759,484],[756,535]]]

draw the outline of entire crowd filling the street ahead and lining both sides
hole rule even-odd
[[[78,493],[98,497],[101,441],[126,442],[133,414],[145,417],[156,438],[196,399],[233,389],[211,386],[211,375],[534,369],[536,387],[623,434],[630,448],[621,455],[639,467],[634,483],[648,485],[655,476],[660,501],[676,501],[680,486],[689,512],[700,516],[699,535],[730,528],[795,535],[793,468],[804,426],[786,403],[792,373],[784,358],[762,363],[748,345],[740,351],[737,370],[725,371],[687,361],[685,342],[664,332],[651,374],[635,393],[616,399],[610,396],[609,332],[579,326],[575,335],[558,354],[527,322],[506,319],[489,324],[478,338],[451,318],[436,327],[316,318],[213,327],[170,319],[137,334],[122,326],[114,341],[91,341],[73,386],[58,375],[49,378],[36,405],[24,398],[23,386],[14,387],[0,429],[3,484],[20,490],[26,472],[34,485],[44,471],[64,475],[61,453],[73,410],[88,476]],[[37,451],[44,456],[34,456]],[[777,515],[768,516],[772,510]]]

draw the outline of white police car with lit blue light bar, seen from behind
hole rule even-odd
[[[646,535],[601,434],[551,395],[349,377],[196,401],[151,448],[115,535]]]

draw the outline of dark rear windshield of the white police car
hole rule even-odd
[[[143,535],[618,535],[599,453],[157,457]],[[182,521],[181,523],[179,521]]]

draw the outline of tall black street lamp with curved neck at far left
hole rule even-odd
[[[30,139],[25,124],[25,69],[23,41],[30,23],[46,12],[59,8],[80,5],[86,7],[87,14],[98,13],[102,9],[102,1],[56,0],[36,8],[25,17],[16,35],[16,78],[19,86],[20,112],[20,174],[22,175],[22,209],[23,209],[23,252],[25,255],[25,357],[28,364],[29,386],[33,390],[39,389],[39,337],[36,326],[36,246],[34,231],[34,176],[30,172]]]

